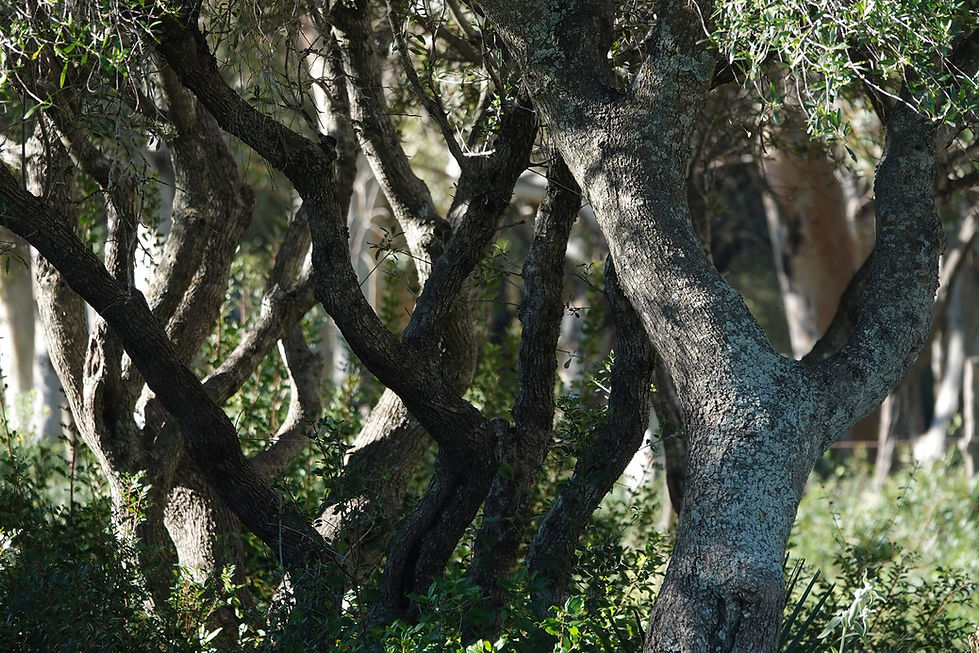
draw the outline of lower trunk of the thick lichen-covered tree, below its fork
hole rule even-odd
[[[789,392],[744,393],[690,420],[683,509],[644,653],[777,650],[786,545],[819,453],[807,433],[815,405],[786,410]]]

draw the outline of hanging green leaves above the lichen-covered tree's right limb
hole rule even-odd
[[[713,38],[747,80],[773,63],[787,72],[814,132],[845,133],[837,100],[854,89],[951,123],[979,107],[976,81],[949,65],[974,11],[945,0],[731,0],[717,4]],[[785,99],[774,82],[758,88],[774,108]]]

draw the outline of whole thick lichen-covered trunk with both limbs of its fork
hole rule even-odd
[[[700,31],[712,4],[663,7],[657,51],[625,94],[606,82],[602,9],[479,5],[591,200],[683,405],[686,493],[645,650],[774,650],[782,557],[805,479],[823,448],[901,378],[927,334],[942,247],[935,127],[894,110],[876,182],[877,255],[856,328],[822,363],[788,361],[710,265],[686,207],[690,133],[714,70]]]

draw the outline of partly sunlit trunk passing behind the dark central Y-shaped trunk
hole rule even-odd
[[[321,30],[329,30],[323,16],[314,18]],[[341,134],[341,143],[358,143],[363,149],[373,176],[405,233],[418,281],[424,284],[432,261],[441,254],[451,229],[459,226],[462,216],[456,216],[451,225],[439,216],[427,186],[415,176],[401,147],[382,92],[378,46],[368,4],[351,5],[335,18],[333,41],[344,47],[321,63],[326,79],[343,83],[324,84],[324,108],[330,109],[325,120],[337,125],[335,131]],[[360,126],[356,137],[351,126],[354,121]],[[475,343],[471,316],[464,308],[465,294],[465,290],[460,293],[441,332],[442,368],[448,371],[448,381],[458,393],[469,386],[475,371]],[[376,563],[384,548],[377,544],[383,545],[390,534],[411,475],[430,443],[424,428],[411,417],[400,397],[391,390],[385,391],[349,452],[344,491],[331,499],[318,520],[318,528],[328,540],[343,538],[355,568],[370,569]]]

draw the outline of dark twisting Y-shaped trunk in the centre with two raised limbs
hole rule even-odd
[[[351,268],[346,222],[333,185],[333,142],[313,143],[246,103],[221,79],[193,19],[165,18],[159,36],[156,47],[161,56],[218,123],[293,183],[309,216],[317,299],[361,361],[401,397],[439,444],[429,488],[400,528],[398,546],[389,553],[375,610],[378,619],[404,614],[411,607],[408,594],[426,591],[442,570],[492,479],[494,469],[485,461],[494,458],[498,429],[455,392],[430,355],[438,348],[439,327],[495,233],[496,219],[527,165],[536,120],[518,107],[501,127],[501,133],[509,137],[500,138],[492,156],[474,162],[472,183],[481,179],[481,186],[470,197],[445,252],[435,261],[401,342],[368,305]],[[239,517],[248,523],[240,513]]]

